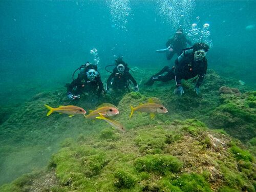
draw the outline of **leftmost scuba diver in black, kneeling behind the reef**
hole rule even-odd
[[[80,73],[74,80],[74,74],[78,70]],[[102,92],[105,93],[96,64],[86,62],[74,71],[72,78],[73,81],[66,86],[68,98],[71,100],[80,99],[80,94],[84,92],[96,93],[98,97]]]

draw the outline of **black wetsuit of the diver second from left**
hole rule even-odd
[[[125,67],[123,73],[118,73],[116,67],[113,70],[113,73],[109,76],[106,81],[106,91],[110,88],[113,90],[129,90],[130,80],[133,82],[134,87],[138,89],[138,84],[129,72],[129,68]],[[111,83],[112,82],[112,83]]]

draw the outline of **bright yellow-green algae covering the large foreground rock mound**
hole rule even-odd
[[[195,127],[201,134],[188,133],[184,130],[186,126]],[[210,132],[204,123],[196,119],[168,122],[161,126],[153,124],[121,135],[111,129],[103,129],[102,133],[94,136],[80,135],[77,141],[68,138],[63,142],[65,144],[62,144],[61,150],[53,155],[49,163],[49,169],[57,177],[57,184],[49,187],[49,190],[254,189],[252,181],[255,178],[252,173],[255,165],[248,159],[237,159],[233,154],[232,147],[236,146],[234,142],[228,145],[231,140],[223,134],[222,139],[215,138],[219,133]],[[175,134],[182,137],[176,139]],[[113,135],[118,139],[111,139]],[[160,138],[162,144],[154,143],[156,138]],[[168,142],[165,142],[166,139]],[[113,144],[114,147],[109,147]],[[159,153],[148,154],[140,150],[143,145],[162,148]],[[182,153],[178,152],[177,147]],[[254,162],[254,159],[251,160]],[[24,182],[28,188],[33,187],[32,183]],[[16,187],[18,191],[20,186],[12,183],[3,187]]]

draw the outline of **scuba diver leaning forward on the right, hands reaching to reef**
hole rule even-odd
[[[196,94],[199,94],[199,87],[207,70],[207,59],[205,56],[208,50],[209,46],[203,42],[197,42],[193,47],[184,49],[182,54],[175,60],[175,67],[170,69],[164,76],[152,76],[147,83],[152,85],[155,81],[165,82],[174,79],[177,86],[174,93],[182,95],[184,90],[181,86],[181,79],[187,80],[197,76],[194,79],[194,81],[198,79],[194,91]]]

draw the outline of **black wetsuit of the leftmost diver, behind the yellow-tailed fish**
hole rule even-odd
[[[102,91],[104,91],[103,83],[99,75],[97,75],[95,79],[91,81],[87,78],[86,73],[84,75],[80,74],[78,76],[79,77],[73,80],[67,87],[68,93],[81,94],[90,92],[100,96]]]

